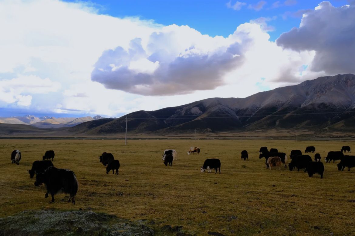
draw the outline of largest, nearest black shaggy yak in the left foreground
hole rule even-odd
[[[69,169],[58,169],[53,166],[45,169],[44,172],[36,172],[35,186],[44,183],[47,188],[47,193],[44,197],[48,197],[48,192],[52,196],[54,202],[54,195],[64,192],[69,194],[68,202],[72,201],[75,204],[75,195],[78,192],[78,180],[73,171]]]

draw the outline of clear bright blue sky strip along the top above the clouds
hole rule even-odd
[[[76,2],[76,1],[72,1]],[[275,18],[269,24],[275,27],[270,32],[272,41],[275,41],[280,34],[289,31],[292,27],[298,27],[302,15],[294,15],[299,10],[314,9],[321,1],[315,0],[291,0],[287,1],[265,1],[260,10],[248,8],[257,5],[260,0],[240,1],[245,2],[240,10],[228,8],[228,0],[126,0],[126,1],[89,1],[100,13],[115,17],[137,16],[141,19],[153,20],[163,25],[177,24],[189,25],[209,36],[221,35],[227,37],[232,34],[236,27],[242,23],[260,17]],[[237,1],[231,1],[234,5]],[[277,5],[273,4],[279,2]],[[348,4],[346,0],[331,1],[335,7]]]

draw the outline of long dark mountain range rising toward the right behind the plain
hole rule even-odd
[[[130,133],[184,133],[257,130],[264,128],[355,130],[355,75],[319,77],[246,98],[209,98],[156,111],[127,115]],[[73,133],[125,132],[126,116],[88,121]]]

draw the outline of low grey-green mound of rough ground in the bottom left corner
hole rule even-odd
[[[0,218],[0,235],[153,235],[146,225],[92,211],[23,211]]]

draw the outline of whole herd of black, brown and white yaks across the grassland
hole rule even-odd
[[[305,150],[305,153],[314,153],[314,146],[308,146]],[[343,146],[340,151],[329,151],[327,157],[325,157],[326,162],[335,162],[336,160],[340,160],[338,164],[338,170],[344,170],[345,167],[350,168],[355,167],[355,156],[344,155],[343,152],[350,152],[349,146]],[[191,147],[187,152],[190,154],[199,154],[200,148]],[[321,155],[316,153],[314,155],[314,161],[312,160],[310,155],[302,155],[301,150],[292,150],[290,153],[290,163],[288,163],[288,157],[284,152],[279,152],[275,148],[271,148],[270,151],[267,147],[261,147],[259,151],[259,159],[265,158],[266,168],[271,169],[272,167],[279,167],[281,169],[281,165],[283,164],[286,168],[289,166],[290,171],[294,168],[297,171],[300,169],[305,169],[304,172],[308,173],[309,177],[312,177],[313,174],[318,173],[323,178],[324,165],[321,162]],[[169,164],[172,166],[173,160],[177,160],[177,152],[174,149],[166,149],[163,153],[162,160],[164,161],[165,166]],[[47,160],[48,159],[48,160]],[[73,171],[69,169],[59,169],[54,167],[54,151],[48,150],[45,152],[42,160],[34,161],[32,164],[32,168],[28,170],[30,178],[32,179],[34,175],[36,175],[36,180],[34,185],[38,186],[40,184],[45,184],[47,192],[45,197],[48,197],[48,194],[51,194],[51,202],[54,202],[54,195],[60,192],[64,192],[69,194],[70,197],[68,202],[72,202],[75,204],[75,196],[78,191],[78,180]],[[248,152],[246,150],[241,151],[241,159],[248,160]],[[21,160],[21,152],[19,150],[13,150],[11,153],[11,163],[20,164]],[[119,160],[115,160],[114,156],[111,153],[103,152],[101,156],[99,156],[100,162],[106,167],[106,174],[108,174],[111,170],[113,174],[119,174],[118,169],[120,168]],[[206,159],[201,166],[201,172],[208,173],[212,172],[212,169],[215,169],[215,173],[219,171],[220,173],[221,162],[219,159]],[[115,173],[116,171],[116,173]]]

